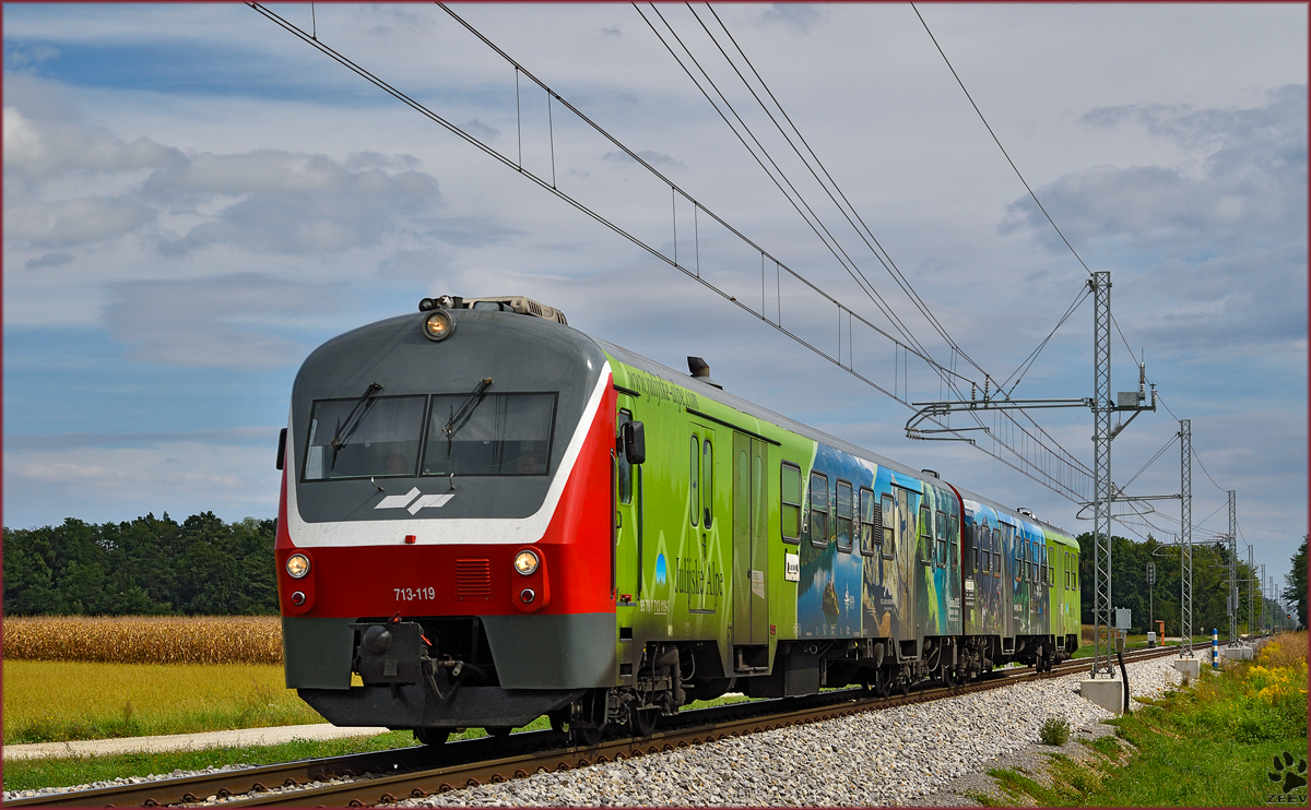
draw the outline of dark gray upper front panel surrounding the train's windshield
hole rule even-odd
[[[423,337],[423,313],[368,324],[328,341],[305,359],[291,397],[287,442],[295,463],[296,506],[307,523],[395,520],[402,509],[376,509],[379,486],[397,495],[417,488],[422,494],[458,493],[440,509],[418,518],[526,518],[536,512],[558,472],[565,448],[579,430],[583,409],[606,363],[606,355],[586,334],[536,317],[503,312],[451,311],[456,330],[442,342]],[[346,406],[363,398],[370,383],[383,388],[379,398],[447,396],[461,402],[492,377],[488,395],[549,393],[556,397],[549,464],[545,474],[416,474],[328,478],[307,474],[312,413],[316,401],[338,400]],[[435,400],[431,400],[435,405]],[[349,408],[343,408],[347,410]],[[414,422],[416,440],[427,423]],[[587,426],[583,425],[585,430]],[[323,426],[332,435],[332,425]],[[425,451],[427,450],[425,443]]]

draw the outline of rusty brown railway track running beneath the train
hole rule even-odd
[[[1175,654],[1177,647],[1134,650],[1126,663]],[[607,739],[597,746],[560,747],[553,731],[528,731],[506,739],[482,738],[446,746],[395,748],[326,759],[300,760],[135,785],[51,793],[5,802],[13,807],[161,807],[195,805],[216,797],[223,807],[368,806],[385,805],[484,782],[502,782],[538,772],[569,771],[648,754],[674,751],[728,737],[742,737],[861,712],[926,703],[1011,685],[1024,679],[1061,678],[1088,668],[1088,659],[1057,665],[1050,672],[1032,667],[998,670],[969,684],[928,685],[891,697],[871,697],[860,688],[823,692],[805,699],[750,701],[683,712],[649,738]]]

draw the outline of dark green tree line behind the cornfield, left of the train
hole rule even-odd
[[[125,523],[4,530],[4,612],[235,616],[278,612],[277,520]]]

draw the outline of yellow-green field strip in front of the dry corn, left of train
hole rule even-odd
[[[277,665],[4,661],[4,744],[312,722]]]

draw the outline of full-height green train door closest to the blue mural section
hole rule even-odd
[[[733,434],[733,662],[770,663],[770,544],[764,442]]]

